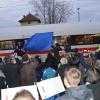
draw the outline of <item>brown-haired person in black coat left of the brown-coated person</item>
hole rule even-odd
[[[21,86],[20,69],[21,65],[16,62],[15,58],[6,56],[4,58],[3,72],[6,76],[6,83],[8,87]]]

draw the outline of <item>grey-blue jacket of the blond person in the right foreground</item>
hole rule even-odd
[[[94,100],[91,89],[86,85],[66,89],[66,93],[56,100]]]

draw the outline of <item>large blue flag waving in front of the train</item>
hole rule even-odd
[[[47,51],[52,45],[53,32],[36,33],[33,35],[23,49],[25,51]]]

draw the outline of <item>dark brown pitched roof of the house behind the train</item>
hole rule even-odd
[[[21,20],[19,20],[20,23],[22,22],[31,22],[31,21],[38,21],[39,23],[41,22],[37,17],[33,16],[31,13],[28,15],[24,15]]]

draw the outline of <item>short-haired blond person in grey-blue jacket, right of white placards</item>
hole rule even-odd
[[[64,72],[65,94],[56,100],[94,100],[92,90],[86,85],[79,85],[81,72],[76,66],[70,66]]]

